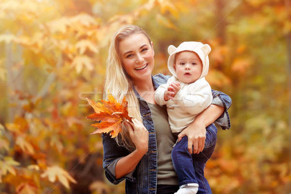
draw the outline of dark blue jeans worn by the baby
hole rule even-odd
[[[206,128],[205,145],[202,152],[190,154],[188,137],[184,136],[172,150],[172,161],[178,176],[179,186],[198,183],[197,194],[212,194],[208,181],[204,177],[205,164],[210,159],[217,140],[217,129],[214,124]]]

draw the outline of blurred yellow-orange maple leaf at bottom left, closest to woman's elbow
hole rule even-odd
[[[68,180],[77,183],[77,181],[72,178],[64,169],[60,168],[59,166],[50,166],[47,170],[41,174],[41,178],[48,177],[50,182],[54,182],[56,178],[66,187],[69,189]]]

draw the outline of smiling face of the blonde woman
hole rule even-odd
[[[122,64],[132,81],[151,77],[154,68],[153,43],[143,33],[134,33],[119,42]]]

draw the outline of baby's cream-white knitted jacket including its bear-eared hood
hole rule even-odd
[[[203,65],[200,78],[190,84],[179,81],[174,68],[175,55],[185,50],[197,53]],[[160,85],[156,90],[155,101],[159,105],[166,104],[172,132],[180,132],[188,127],[194,121],[196,115],[206,109],[212,102],[211,87],[205,80],[209,69],[208,54],[210,51],[210,46],[201,42],[183,42],[177,48],[173,45],[168,47],[168,53],[170,54],[168,69],[173,76],[166,84]],[[164,93],[174,81],[179,81],[181,89],[173,99],[164,101]]]

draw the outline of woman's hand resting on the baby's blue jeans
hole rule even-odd
[[[185,135],[188,137],[188,151],[190,154],[198,154],[204,149],[206,139],[206,126],[204,122],[195,119],[192,124],[179,133],[178,141]]]

